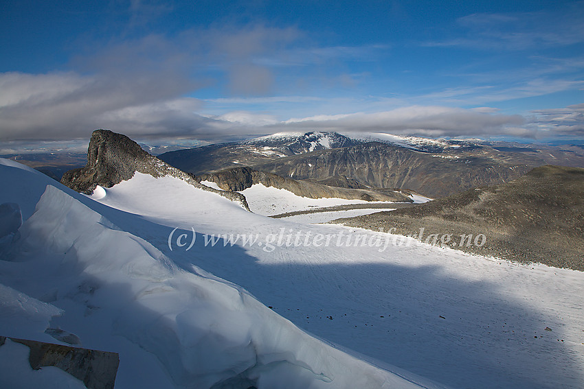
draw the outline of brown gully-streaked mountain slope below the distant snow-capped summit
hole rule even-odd
[[[411,189],[430,198],[508,182],[530,170],[484,156],[440,158],[378,142],[277,158],[253,167],[296,180],[345,176],[371,187]]]

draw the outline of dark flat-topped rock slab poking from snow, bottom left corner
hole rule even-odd
[[[120,364],[117,353],[3,336],[0,336],[0,346],[5,344],[6,339],[30,349],[29,362],[34,370],[55,366],[80,379],[89,389],[113,389]]]

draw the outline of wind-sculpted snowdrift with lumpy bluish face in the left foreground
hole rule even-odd
[[[0,281],[33,296],[43,290],[65,307],[47,311],[63,313],[62,326],[91,320],[106,338],[121,336],[152,353],[172,386],[418,387],[312,338],[232,283],[179,268],[56,187],[47,186],[21,235],[3,257]],[[25,281],[16,275],[22,270]],[[124,368],[123,342],[112,346],[81,331],[82,342],[119,352]]]

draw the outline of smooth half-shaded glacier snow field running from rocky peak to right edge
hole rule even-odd
[[[126,208],[131,204],[146,220],[185,232],[194,228],[199,235],[196,255],[177,248],[170,253],[168,235],[149,239],[181,266],[196,263],[242,285],[295,325],[368,355],[372,362],[454,388],[555,388],[558,383],[579,388],[584,381],[581,272],[518,265],[425,244],[389,244],[383,252],[347,245],[300,244],[273,252],[258,244],[204,247],[205,234],[254,234],[261,242],[281,228],[292,235],[379,233],[273,220],[219,204],[187,187],[173,189],[173,200],[168,201],[156,187],[154,178],[135,176],[108,193],[115,197],[127,190],[126,200],[118,196],[117,203]],[[137,201],[131,193],[138,192],[150,197]],[[199,201],[185,202],[192,196]],[[153,204],[163,198],[181,206],[162,215]],[[107,196],[101,201],[111,204]],[[426,232],[431,233],[431,226]],[[396,242],[401,239],[394,237]]]

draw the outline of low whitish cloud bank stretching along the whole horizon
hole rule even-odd
[[[427,137],[584,136],[583,104],[502,115],[489,107],[405,106],[377,113],[319,115],[278,120],[237,110],[201,115],[203,102],[175,97],[185,86],[155,78],[126,79],[77,73],[0,74],[1,139],[87,138],[96,128],[134,137],[198,137],[298,130],[365,131]],[[252,98],[253,99],[253,98]],[[282,98],[282,100],[286,100]],[[294,99],[292,99],[294,100]]]

